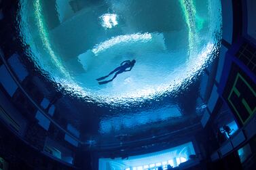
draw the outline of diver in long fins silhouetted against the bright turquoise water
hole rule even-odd
[[[103,85],[103,84],[109,83],[109,82],[113,81],[113,79],[115,79],[115,77],[117,77],[117,75],[121,74],[122,72],[126,72],[126,71],[132,70],[135,62],[136,62],[135,60],[132,60],[132,61],[126,60],[126,61],[122,62],[120,64],[120,66],[115,68],[115,70],[111,71],[109,73],[109,75],[96,79],[97,81],[101,81],[101,82],[98,82],[98,84]],[[128,68],[128,70],[126,70],[127,68]],[[113,76],[112,79],[110,79],[108,81],[102,81],[103,79],[106,79],[107,77],[112,75],[114,72],[115,72],[115,75]]]

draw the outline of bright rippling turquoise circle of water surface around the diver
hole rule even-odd
[[[110,104],[186,88],[221,41],[219,0],[21,0],[19,17],[41,72],[80,98]],[[130,72],[98,84],[124,60],[136,60]]]

